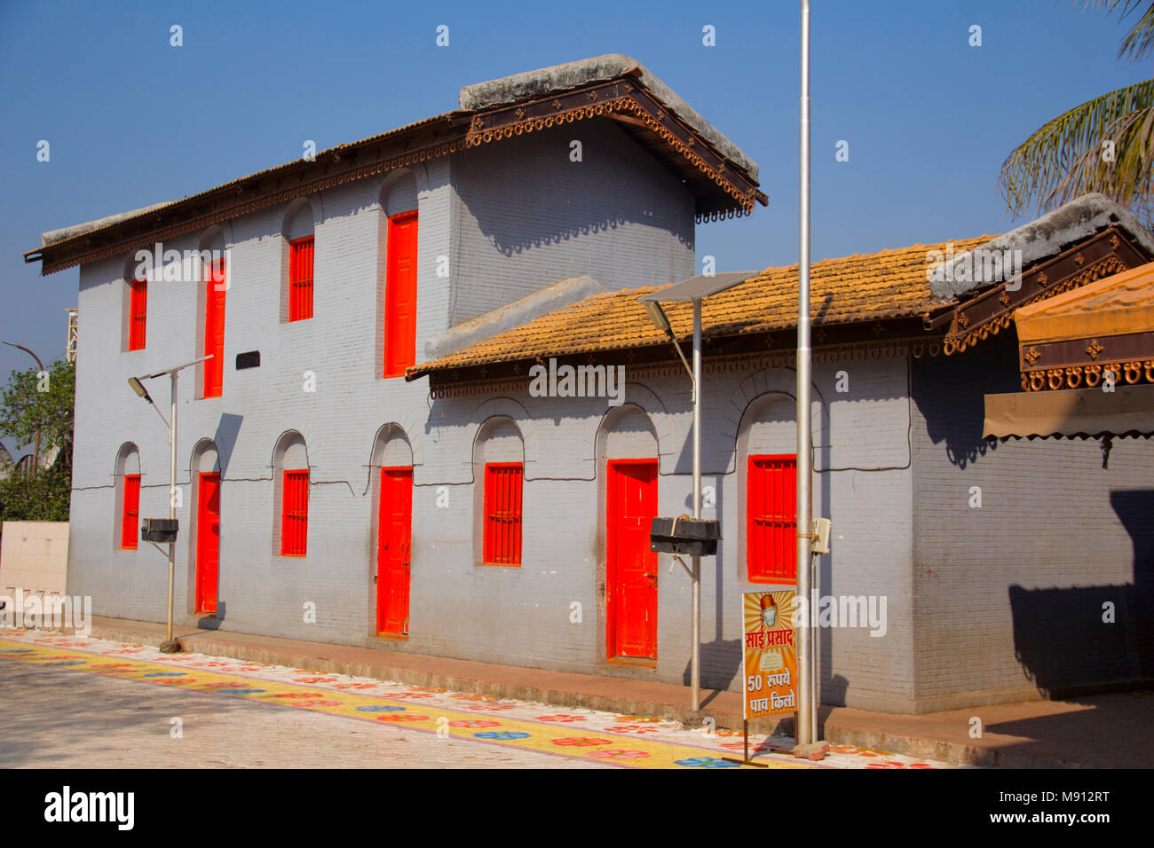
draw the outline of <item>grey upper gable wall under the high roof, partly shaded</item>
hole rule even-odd
[[[692,196],[608,120],[454,153],[452,183],[452,262],[475,282],[457,290],[450,324],[579,275],[608,290],[694,276]]]

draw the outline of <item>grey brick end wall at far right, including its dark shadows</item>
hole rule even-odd
[[[1014,345],[914,363],[920,711],[1154,676],[1154,452],[1116,440],[1102,468],[1094,441],[983,442],[983,393],[1020,390]]]

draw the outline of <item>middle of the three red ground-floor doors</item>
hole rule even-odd
[[[376,630],[409,633],[409,566],[413,517],[413,470],[381,468],[380,536],[376,549]]]

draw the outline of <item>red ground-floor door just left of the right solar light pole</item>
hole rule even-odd
[[[657,459],[608,463],[607,613],[609,659],[657,659]]]

